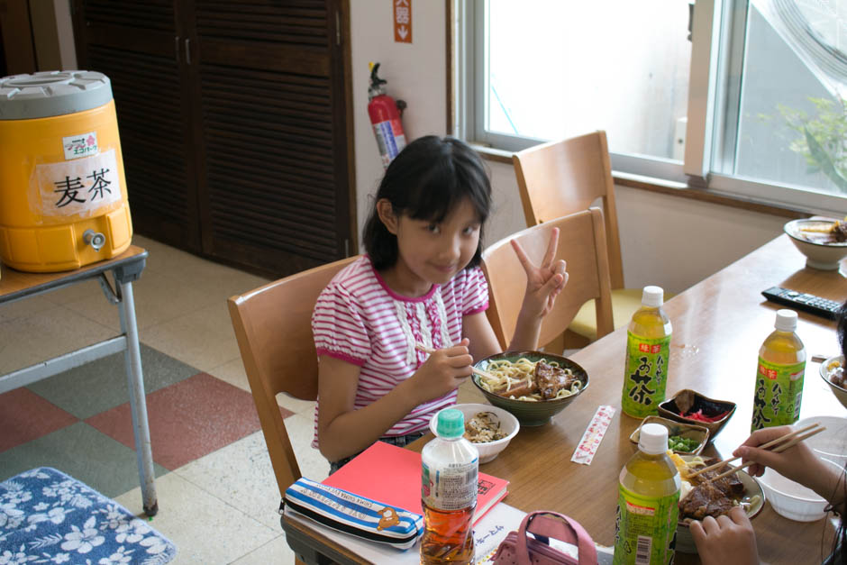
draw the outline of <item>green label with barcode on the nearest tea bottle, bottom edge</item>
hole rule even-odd
[[[620,486],[615,515],[614,565],[667,565],[673,560],[679,490],[642,497]]]

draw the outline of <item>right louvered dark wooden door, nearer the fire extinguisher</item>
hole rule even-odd
[[[346,3],[188,4],[204,251],[279,274],[346,256]]]

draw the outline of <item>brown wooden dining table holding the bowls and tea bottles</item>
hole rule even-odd
[[[697,258],[691,258],[697,260]],[[694,388],[713,398],[733,400],[735,414],[706,455],[728,456],[750,433],[753,383],[761,342],[773,331],[773,305],[760,295],[768,287],[788,287],[833,300],[847,299],[847,261],[840,271],[806,269],[806,258],[781,235],[726,269],[675,296],[665,305],[673,324],[668,396]],[[566,290],[567,292],[567,290]],[[834,323],[799,313],[797,334],[806,351],[839,353]],[[589,386],[552,424],[524,427],[496,460],[483,466],[511,484],[505,502],[524,511],[555,510],[576,518],[596,542],[612,545],[615,535],[617,480],[635,451],[629,436],[640,420],[621,412],[626,330],[619,329],[572,356],[587,370]],[[482,398],[482,396],[480,396]],[[570,461],[597,406],[617,413],[589,466]],[[818,374],[806,364],[800,417],[845,416],[847,411]],[[427,438],[415,442],[423,448]],[[792,522],[765,505],[752,522],[760,559],[769,563],[820,563],[828,555],[834,520]],[[316,553],[342,562],[363,562],[350,551],[327,543],[319,533],[284,520],[289,540],[307,537]],[[824,541],[822,542],[822,537]],[[314,555],[309,560],[314,559]],[[678,563],[697,563],[695,555],[677,554]]]

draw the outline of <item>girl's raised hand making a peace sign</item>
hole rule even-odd
[[[511,243],[512,249],[515,250],[526,272],[526,294],[524,294],[521,313],[541,319],[550,313],[556,302],[556,296],[559,296],[561,289],[568,284],[565,261],[555,260],[556,250],[559,249],[559,228],[552,229],[547,251],[539,266],[527,257],[524,248],[517,240],[512,240]]]

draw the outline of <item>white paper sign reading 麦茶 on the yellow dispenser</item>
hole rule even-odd
[[[33,181],[32,208],[46,217],[75,214],[89,217],[122,198],[114,150],[83,159],[36,165]]]

